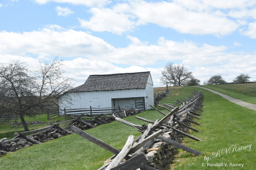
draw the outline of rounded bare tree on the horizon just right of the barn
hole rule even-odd
[[[166,67],[164,67],[164,71],[162,71],[160,80],[163,84],[176,84],[181,86],[186,85],[191,77],[192,72],[189,72],[184,65],[168,63]]]

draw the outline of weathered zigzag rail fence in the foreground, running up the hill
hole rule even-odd
[[[105,170],[110,170],[110,169],[126,170],[127,169],[128,170],[128,169],[138,169],[138,168],[152,170],[156,168],[156,165],[154,167],[154,164],[149,164],[149,163],[152,163],[152,160],[154,159],[155,155],[147,156],[144,154],[144,150],[146,150],[148,146],[150,146],[152,143],[155,142],[154,140],[155,138],[160,139],[168,144],[172,144],[173,146],[181,148],[187,152],[191,152],[192,154],[195,154],[195,155],[202,154],[201,152],[195,149],[189,148],[187,146],[184,146],[183,144],[180,144],[179,142],[175,142],[174,140],[167,138],[166,135],[162,135],[166,131],[171,130],[171,131],[175,131],[177,134],[188,136],[188,138],[198,140],[198,141],[201,140],[199,138],[196,138],[195,136],[189,135],[186,132],[179,130],[178,128],[173,127],[175,122],[175,123],[179,123],[180,126],[189,127],[191,130],[200,132],[199,130],[196,130],[195,128],[188,126],[189,125],[188,121],[195,123],[196,125],[200,125],[200,124],[195,121],[191,121],[190,119],[186,118],[184,115],[189,114],[188,116],[193,115],[192,116],[193,118],[200,119],[197,116],[202,115],[200,113],[201,111],[203,111],[202,110],[203,95],[201,95],[201,91],[193,92],[192,96],[188,96],[188,98],[184,99],[184,102],[181,102],[181,101],[175,101],[175,102],[179,103],[179,105],[181,104],[181,106],[179,107],[179,106],[171,105],[170,103],[164,104],[168,107],[171,107],[172,110],[168,109],[165,106],[158,105],[159,107],[163,107],[164,109],[170,111],[168,114],[165,114],[159,109],[156,109],[156,107],[151,106],[153,109],[155,109],[156,111],[164,115],[164,118],[162,119],[156,119],[156,121],[150,121],[141,117],[136,117],[142,121],[145,121],[148,123],[154,123],[154,125],[148,124],[148,126],[145,126],[145,125],[140,126],[140,125],[135,125],[133,123],[125,121],[121,118],[115,118],[115,120],[125,123],[126,125],[129,125],[131,127],[134,127],[138,131],[142,132],[142,135],[135,140],[133,135],[129,136],[125,146],[122,148],[121,151],[115,149],[112,146],[109,146],[109,144],[106,144],[100,139],[95,138],[94,136],[86,133],[85,131],[80,130],[79,128],[72,126],[71,130],[73,132],[76,132],[83,138],[89,140],[90,142],[93,142],[94,144],[97,144],[98,146],[105,148],[106,150],[114,154],[114,156],[110,158],[109,163],[106,163],[98,170],[102,170],[102,169],[105,169]],[[181,122],[181,121],[184,121],[184,119],[185,121],[187,121],[187,125]],[[158,154],[160,154],[160,152]],[[113,157],[114,159],[112,159]],[[159,157],[162,157],[162,156],[159,156]],[[123,159],[125,159],[124,162],[122,162]],[[151,165],[151,167],[149,165]],[[159,167],[157,168],[159,169]]]

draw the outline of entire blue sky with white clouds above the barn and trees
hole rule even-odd
[[[28,68],[64,60],[76,86],[91,74],[150,71],[167,63],[201,84],[240,73],[256,80],[255,0],[0,0],[0,61]]]

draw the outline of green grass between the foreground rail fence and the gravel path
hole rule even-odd
[[[203,152],[202,156],[187,156],[188,153],[179,150],[175,160],[175,169],[256,169],[256,111],[238,106],[217,94],[203,89],[204,94],[204,115],[197,122],[202,126],[193,126],[201,132],[190,131],[191,135],[202,139],[197,142],[184,138],[188,147]],[[230,154],[218,155],[209,159],[208,163],[228,163],[227,167],[202,167],[206,163],[204,157],[212,156],[213,152],[229,148],[232,145],[248,146],[251,150],[234,151]],[[224,149],[225,150],[225,149]],[[224,151],[223,150],[223,151]],[[241,167],[230,167],[230,163],[244,164]]]

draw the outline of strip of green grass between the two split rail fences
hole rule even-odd
[[[172,100],[174,98],[166,97],[162,102],[170,103]],[[167,110],[159,109],[168,113]],[[144,111],[138,116],[151,120],[163,117],[155,110]],[[148,124],[136,119],[135,116],[125,119],[137,125]],[[135,138],[141,135],[141,132],[135,128],[118,121],[86,130],[86,132],[117,149],[122,149],[129,135],[134,135]],[[98,169],[112,155],[111,152],[74,134],[2,156],[0,169],[14,167],[15,169]]]

